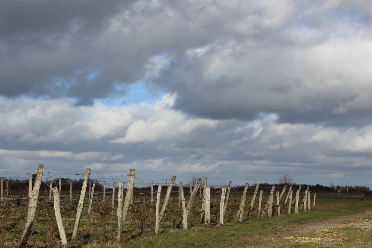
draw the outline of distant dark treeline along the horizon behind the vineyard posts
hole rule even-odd
[[[36,174],[33,175],[32,182],[35,182],[35,177]],[[28,179],[13,179],[13,178],[3,178],[4,179],[4,191],[6,188],[6,179],[9,180],[9,190],[10,194],[19,194],[19,193],[27,193],[28,192],[28,185],[29,185],[29,180]],[[93,184],[94,179],[90,179],[91,184]],[[81,179],[71,179],[71,178],[61,178],[61,191],[62,192],[69,192],[70,191],[70,182],[73,183],[73,191],[81,191],[81,187],[83,185],[83,178]],[[53,179],[53,187],[58,187],[59,184],[59,178]],[[110,183],[112,184],[112,183]],[[49,192],[49,185],[50,185],[50,180],[45,180],[42,181],[40,190],[41,192],[47,191]],[[264,188],[267,191],[271,189],[271,187],[275,185],[278,190],[283,188],[283,184],[269,184],[266,182],[260,183],[260,189]],[[310,187],[310,191],[316,192],[317,195],[336,195],[338,194],[338,191],[340,190],[341,195],[350,195],[350,196],[366,196],[366,197],[372,197],[372,191],[369,187],[366,186],[349,186],[346,192],[346,186],[340,186],[340,185],[333,185],[330,184],[329,186],[323,186],[320,184],[317,185],[307,185],[307,184],[302,184],[302,189],[306,189],[307,186]],[[125,187],[125,186],[124,186]],[[256,187],[256,184],[251,184],[250,185],[250,190],[254,190],[254,187]],[[289,187],[289,185],[288,185]],[[287,190],[288,190],[287,187]],[[294,189],[297,189],[299,187],[299,184],[293,184],[292,186]],[[118,188],[118,182],[116,182],[116,190]],[[154,184],[154,191],[157,190],[158,186]],[[178,185],[174,184],[173,186],[173,192],[172,194],[178,194]],[[189,186],[186,184],[184,185],[185,188],[185,193],[190,193],[189,192]],[[232,187],[232,190],[237,191],[238,193],[243,192],[244,185],[237,185],[235,187]],[[221,189],[220,186],[215,186],[212,187],[211,190],[219,191]],[[162,191],[167,190],[167,185],[163,185]],[[102,192],[103,191],[103,181],[96,182],[96,186],[94,187],[95,192]],[[112,185],[108,186],[106,183],[106,192],[112,191]],[[141,187],[134,187],[134,192],[135,193],[150,193],[151,189],[150,187],[147,186],[141,186]],[[249,193],[248,193],[249,194]]]

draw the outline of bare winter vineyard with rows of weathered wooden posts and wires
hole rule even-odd
[[[208,185],[207,178],[182,184],[176,177],[143,181],[134,169],[116,176],[92,177],[90,172],[63,175],[75,180],[54,179],[56,173],[44,173],[39,165],[28,185],[12,180],[25,178],[24,172],[2,172],[0,246],[125,246],[138,236],[160,236],[169,229],[285,218],[315,207],[316,193],[301,185],[232,187],[231,181]]]

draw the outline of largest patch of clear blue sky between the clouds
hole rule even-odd
[[[124,96],[109,96],[104,99],[96,99],[95,102],[100,102],[108,107],[141,104],[142,102],[153,104],[160,101],[164,94],[165,92],[149,88],[147,83],[140,81],[129,85]]]

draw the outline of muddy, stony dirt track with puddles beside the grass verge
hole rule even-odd
[[[349,206],[347,201],[335,207]],[[232,247],[372,247],[372,210],[281,228],[279,235],[243,237]]]

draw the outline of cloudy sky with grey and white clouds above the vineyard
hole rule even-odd
[[[367,185],[372,3],[4,0],[0,171]]]

